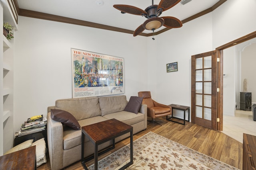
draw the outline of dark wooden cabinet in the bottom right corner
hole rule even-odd
[[[243,136],[243,170],[255,170],[256,136],[244,133]]]

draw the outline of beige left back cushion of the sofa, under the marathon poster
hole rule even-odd
[[[98,97],[56,100],[55,108],[68,111],[76,118],[76,120],[101,115]]]

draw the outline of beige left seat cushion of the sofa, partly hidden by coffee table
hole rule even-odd
[[[83,119],[78,121],[81,127],[90,125],[93,123],[98,123],[100,121],[105,121],[106,118],[102,116],[96,116],[96,117],[90,117],[88,119]],[[80,131],[74,131],[73,129],[69,127],[63,127],[63,149],[68,150],[73,147],[76,147],[78,145],[81,145],[81,130]],[[84,142],[89,141],[89,139],[85,139]]]

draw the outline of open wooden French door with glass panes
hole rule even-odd
[[[210,51],[191,59],[191,122],[217,130],[217,54]]]

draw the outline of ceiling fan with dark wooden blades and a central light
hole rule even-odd
[[[145,29],[154,30],[162,27],[169,28],[178,28],[182,27],[182,22],[175,17],[159,17],[163,11],[166,11],[176,4],[178,4],[181,0],[161,0],[158,5],[154,5],[154,0],[152,0],[152,5],[148,6],[145,10],[137,8],[135,6],[130,5],[123,5],[123,4],[116,4],[114,8],[121,11],[122,14],[134,14],[138,16],[144,16],[148,18],[142,25],[140,25],[133,33],[133,36],[137,36],[138,34],[142,33]]]

